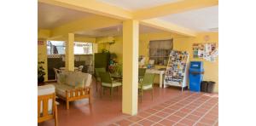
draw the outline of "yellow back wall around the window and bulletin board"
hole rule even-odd
[[[217,43],[218,45],[218,32],[201,32],[198,33],[196,37],[184,37],[178,35],[172,35],[172,33],[168,32],[160,32],[160,33],[148,33],[148,34],[140,34],[139,36],[139,54],[146,56],[146,60],[148,60],[148,43],[150,40],[164,40],[171,39],[173,40],[173,49],[189,51],[189,60],[201,60],[204,62],[204,80],[211,80],[216,82],[216,86],[214,92],[218,92],[218,58],[215,62],[210,62],[203,59],[194,59],[192,53],[192,44],[193,43],[206,43],[204,37],[208,35],[210,40],[208,43]],[[122,57],[122,37],[114,37],[117,39],[116,43],[111,46],[110,52],[115,52],[118,54],[118,60],[121,63]],[[98,43],[98,51],[101,52],[102,49],[108,49],[108,45],[106,43],[102,43],[102,41],[107,40],[107,37],[99,37],[96,38],[96,43]],[[155,66],[156,68],[164,67],[164,66]],[[155,83],[158,82],[156,79]]]

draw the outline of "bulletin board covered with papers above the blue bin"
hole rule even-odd
[[[193,43],[193,58],[203,58],[214,62],[218,57],[216,43]]]

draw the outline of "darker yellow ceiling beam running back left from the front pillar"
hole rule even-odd
[[[110,26],[118,26],[121,24],[122,20],[115,20],[113,18],[94,15],[84,19],[69,22],[62,26],[55,27],[51,31],[51,37],[66,35],[69,32],[76,33],[79,31],[93,31],[96,29]]]

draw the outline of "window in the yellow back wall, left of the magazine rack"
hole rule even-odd
[[[172,41],[155,40],[149,42],[149,60],[154,60],[155,65],[166,66],[172,50]]]

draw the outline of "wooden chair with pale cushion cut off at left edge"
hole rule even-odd
[[[57,106],[55,104],[55,86],[38,86],[38,123],[49,119],[55,119],[58,125]]]

